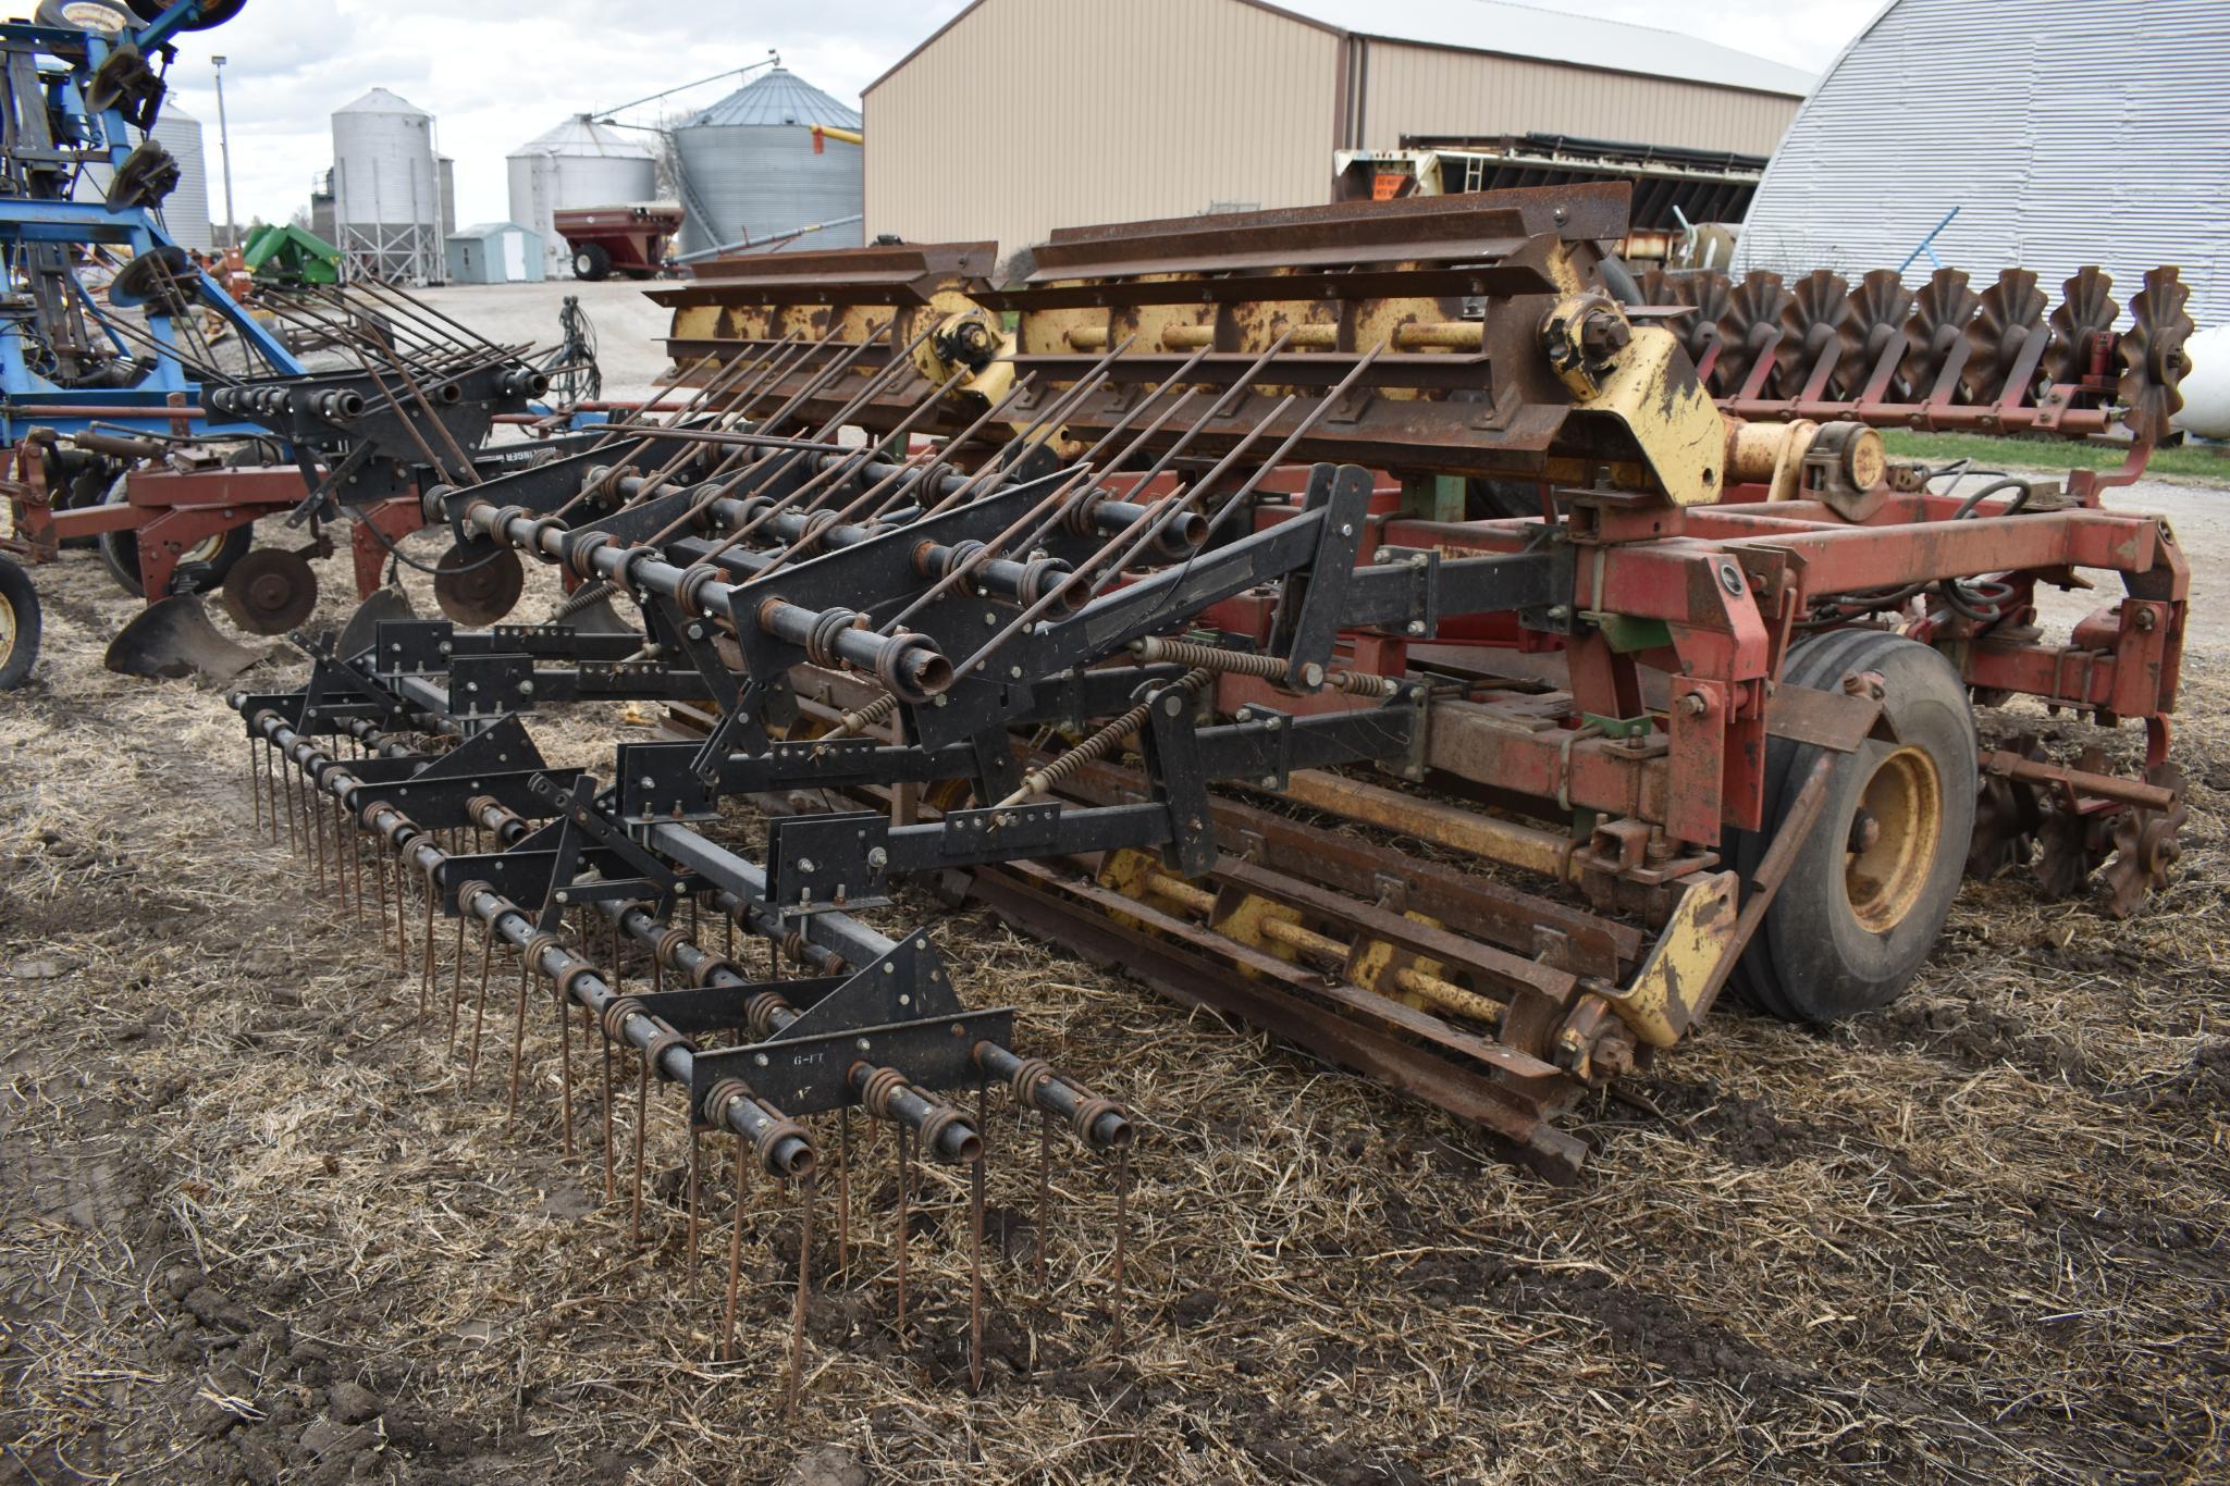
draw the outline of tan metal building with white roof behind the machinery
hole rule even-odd
[[[867,85],[867,232],[1329,201],[1334,149],[1570,134],[1764,156],[1811,74],[1494,0],[975,0]]]

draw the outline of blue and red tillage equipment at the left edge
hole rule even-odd
[[[419,526],[421,483],[517,463],[522,450],[482,446],[495,417],[549,390],[531,348],[493,345],[372,276],[334,283],[337,250],[297,227],[256,236],[254,316],[165,238],[156,212],[176,169],[158,143],[129,143],[163,105],[149,58],[239,9],[149,0],[136,29],[0,25],[0,247],[20,290],[0,305],[0,495],[13,504],[0,550],[42,561],[98,541],[118,586],[147,602],[112,666],[145,675],[245,664],[196,593],[223,588],[250,633],[297,624],[337,519],[352,524],[359,595],[375,593]],[[58,18],[91,11],[120,13]],[[107,198],[71,201],[94,160],[112,172]],[[94,270],[112,270],[100,290]],[[306,370],[312,348],[339,352],[341,370]],[[263,517],[303,528],[297,546],[252,553]],[[11,635],[36,633],[25,590]]]

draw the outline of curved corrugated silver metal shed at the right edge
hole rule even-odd
[[[2127,307],[2172,263],[2230,323],[2230,4],[1896,0],[1820,80],[1766,169],[1735,267],[1896,267],[2047,292],[2083,265]],[[1927,278],[1922,252],[1907,272]]]

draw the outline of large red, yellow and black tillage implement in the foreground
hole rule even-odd
[[[747,1167],[807,1234],[834,1167],[843,1225],[861,1109],[901,1170],[970,1170],[979,1254],[995,1089],[1119,1187],[1126,1112],[934,933],[863,920],[905,882],[1572,1179],[1557,1116],[1728,985],[1880,1007],[1962,873],[2032,856],[2130,911],[2183,809],[2188,570],[2101,504],[2176,401],[2174,272],[2118,334],[2090,274],[1965,314],[1753,278],[1744,321],[1706,312],[1724,281],[1626,276],[1623,229],[1621,192],[1554,189],[1068,232],[1008,290],[988,245],[705,265],[656,292],[680,410],[424,495],[453,566],[555,568],[560,619],[388,619],[236,695],[263,824],[377,909],[468,1056],[515,954],[497,1036],[517,1067],[542,1023],[566,1074],[513,1112],[584,1138],[571,1043],[600,1049],[589,1138],[638,1221],[669,1087],[734,1141],[736,1232]],[[1909,423],[2132,454],[1962,486],[1884,457]],[[2047,635],[2038,588],[2101,577]],[[2141,724],[2141,778],[1985,749],[2009,697]],[[529,717],[591,700],[665,704],[667,740],[551,769]],[[749,851],[731,798],[767,815]],[[691,1265],[698,1199],[691,1167]],[[1119,1234],[1113,1263],[1119,1323]]]

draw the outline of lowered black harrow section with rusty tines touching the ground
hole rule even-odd
[[[306,856],[317,880],[330,887],[343,907],[359,918],[366,909],[363,880],[370,876],[379,898],[379,916],[392,905],[397,967],[419,978],[419,1014],[424,1027],[437,1011],[439,933],[437,916],[455,920],[455,945],[448,985],[448,1043],[459,1052],[466,991],[466,927],[479,929],[477,1005],[466,1043],[468,1078],[477,1076],[482,1036],[488,1014],[488,985],[497,947],[517,954],[520,978],[513,1007],[511,1081],[506,1096],[506,1130],[520,1112],[520,1083],[529,1027],[529,982],[540,978],[553,989],[555,1029],[560,1034],[558,1123],[566,1154],[578,1152],[573,1032],[575,1014],[584,1040],[600,1040],[602,1089],[595,1096],[602,1125],[602,1194],[620,1199],[622,1141],[615,1112],[622,1103],[624,1063],[636,1065],[636,1098],[631,1121],[629,1174],[629,1245],[644,1243],[644,1174],[651,1089],[680,1085],[689,1092],[689,1174],[687,1174],[687,1270],[696,1292],[698,1261],[707,1223],[702,1136],[734,1138],[734,1216],[727,1243],[727,1285],[720,1317],[720,1359],[738,1359],[738,1306],[745,1230],[749,1223],[749,1167],[758,1165],[783,1190],[796,1194],[798,1248],[796,1294],[792,1306],[792,1350],[785,1384],[785,1408],[796,1410],[805,1377],[805,1314],[812,1294],[814,1210],[825,1167],[825,1141],[801,1121],[809,1114],[838,1114],[836,1138],[836,1263],[823,1277],[854,1283],[852,1254],[852,1109],[890,1125],[899,1165],[899,1214],[892,1228],[892,1268],[901,1341],[908,1332],[908,1205],[919,1201],[914,1163],[921,1159],[957,1165],[968,1172],[968,1370],[970,1386],[983,1384],[983,1203],[988,1141],[988,1092],[1008,1089],[1017,1109],[1041,1116],[1037,1170],[1037,1261],[1035,1283],[1046,1292],[1046,1234],[1053,1221],[1053,1130],[1066,1125],[1088,1150],[1104,1152],[1113,1163],[1117,1196],[1117,1234],[1111,1261],[1111,1317],[1122,1335],[1124,1285],[1124,1194],[1128,1187],[1131,1118],[1113,1101],[1090,1094],[1041,1058],[1028,1058],[1006,1045],[1006,1036],[983,1036],[1010,1027],[1010,1014],[968,1014],[943,985],[943,971],[928,949],[925,936],[890,940],[843,913],[785,922],[765,902],[765,873],[752,862],[678,824],[653,827],[647,844],[678,864],[667,891],[647,882],[615,882],[586,858],[542,862],[540,844],[549,829],[529,815],[555,815],[562,835],[573,811],[573,824],[598,806],[584,784],[555,789],[564,773],[544,773],[540,755],[515,722],[486,729],[468,740],[439,737],[444,717],[413,711],[399,700],[381,717],[348,715],[350,708],[319,708],[317,686],[294,697],[230,697],[243,715],[250,737],[250,795],[256,802],[256,824],[279,842],[285,820],[290,849]],[[384,726],[386,724],[386,726]],[[388,726],[413,733],[395,733]],[[419,733],[424,731],[424,733]],[[493,742],[491,742],[493,740]],[[450,749],[428,749],[428,742],[455,742]],[[491,755],[524,769],[486,771]],[[457,773],[464,769],[464,773]],[[484,773],[491,789],[513,800],[546,800],[526,813],[511,809],[493,793],[464,793],[471,773]],[[428,775],[442,775],[433,786],[428,824],[413,818],[395,800],[428,791]],[[522,775],[542,791],[520,791]],[[466,849],[466,833],[471,847]],[[497,853],[477,851],[495,844]],[[366,849],[372,864],[366,869]],[[562,856],[562,853],[560,853]],[[508,858],[508,860],[506,860]],[[540,911],[520,902],[517,882],[531,880],[513,867],[544,867],[546,882]],[[575,871],[589,867],[586,878]],[[682,876],[685,873],[685,876]],[[491,878],[502,878],[511,891]],[[636,896],[631,889],[644,889]],[[410,933],[410,898],[421,909],[417,945]],[[689,927],[673,920],[680,900],[689,902]],[[564,922],[571,909],[573,925]],[[727,949],[736,949],[736,927],[769,942],[769,976],[747,976],[729,954],[716,954],[700,942],[702,913],[718,913],[727,925]],[[386,938],[386,931],[381,933]],[[595,958],[602,942],[609,954]],[[624,980],[627,949],[647,960],[649,989],[629,989]],[[821,971],[812,980],[780,980],[783,958]],[[854,969],[856,967],[856,969]],[[667,980],[671,976],[671,982]],[[910,987],[910,989],[894,989]],[[805,1003],[805,1005],[798,1005]],[[881,1020],[905,1003],[921,1016]],[[870,1007],[874,1011],[870,1011]],[[834,1016],[832,1016],[834,1014]],[[834,1029],[832,1029],[834,1023]],[[718,1040],[723,1038],[725,1040]],[[963,1043],[959,1060],[952,1043]],[[939,1047],[943,1045],[943,1047]],[[796,1052],[803,1049],[803,1052]],[[923,1052],[937,1054],[934,1076],[917,1078]],[[796,1063],[783,1054],[796,1052]],[[832,1058],[832,1054],[836,1054]],[[613,1058],[622,1069],[613,1069]],[[807,1094],[805,1114],[787,1114],[776,1098],[785,1076],[801,1067],[836,1067],[838,1081],[821,1078]],[[954,1072],[959,1069],[959,1072]],[[977,1112],[970,1116],[934,1087],[977,1087]],[[930,1087],[934,1085],[934,1087]],[[872,1150],[872,1141],[863,1145]]]

